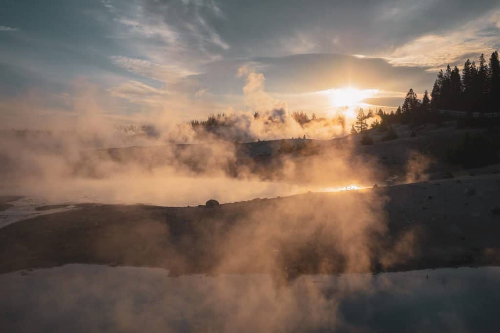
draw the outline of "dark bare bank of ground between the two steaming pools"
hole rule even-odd
[[[0,273],[69,263],[171,275],[380,272],[500,264],[500,176],[215,208],[80,205],[0,229]]]

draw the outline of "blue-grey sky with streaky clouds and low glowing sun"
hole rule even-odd
[[[116,122],[281,106],[328,116],[346,87],[397,107],[499,37],[494,0],[3,0],[0,120],[87,108]]]

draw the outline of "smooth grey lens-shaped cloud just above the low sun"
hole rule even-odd
[[[269,93],[303,94],[348,85],[358,89],[396,92],[406,91],[412,86],[417,92],[423,92],[431,87],[435,79],[435,73],[428,72],[428,67],[396,67],[382,58],[342,54],[222,60],[201,66],[201,74],[186,79],[197,89],[206,88],[214,94],[239,93],[241,90],[235,87],[240,87],[241,82],[234,72],[244,65],[258,69],[265,76]]]

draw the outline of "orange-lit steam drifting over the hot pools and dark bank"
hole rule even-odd
[[[373,267],[390,267],[412,253],[414,238],[408,233],[390,256],[378,262],[373,253],[382,248],[380,239],[387,231],[387,198],[381,192],[306,193],[366,185],[375,177],[376,160],[359,154],[351,138],[312,143],[288,140],[293,147],[289,154],[278,152],[280,141],[253,146],[235,143],[234,138],[251,141],[304,135],[331,139],[349,128],[348,119],[346,123],[337,117],[300,125],[288,113],[286,103],[264,91],[261,73],[241,67],[238,75],[246,80],[244,102],[251,111],[228,115],[223,120],[230,126],[214,131],[196,130],[187,123],[162,127],[164,116],[151,121],[156,124],[153,132],[117,131],[103,116],[99,102],[92,99],[91,89],[74,105],[77,121],[63,126],[74,130],[3,131],[0,193],[41,196],[47,203],[195,206],[208,199],[221,203],[251,200],[223,206],[214,213],[201,211],[203,218],[181,242],[174,239],[169,224],[139,216],[142,220],[132,230],[112,233],[115,242],[111,244],[126,245],[130,235],[138,235],[150,253],[158,254],[151,262],[169,265],[172,272],[190,273],[193,262],[204,259],[191,258],[194,252],[213,259],[203,266],[206,273],[268,273],[272,283],[255,288],[255,294],[245,291],[247,309],[238,311],[226,329],[237,331],[241,323],[248,323],[249,316],[261,314],[264,299],[280,311],[275,313],[273,325],[255,322],[252,328],[286,330],[286,321],[292,319],[291,314],[300,313],[297,309],[301,305],[289,290],[280,292],[280,288],[293,284],[300,274],[370,272]],[[190,144],[174,144],[180,142]],[[297,150],[300,145],[305,148]],[[415,159],[409,171],[420,172],[417,166],[423,164]],[[290,195],[296,196],[285,197]],[[276,196],[285,198],[252,200]],[[201,235],[201,240],[196,235]],[[114,255],[109,243],[98,236],[92,243],[93,252],[103,262]],[[134,263],[135,255],[127,259]],[[366,288],[366,281],[348,279],[337,287],[342,292],[359,290]],[[214,288],[222,297],[239,292],[224,283]],[[336,299],[324,298],[317,287],[303,288],[307,304],[319,309],[317,318],[310,322],[334,323]],[[121,303],[116,314],[123,319],[128,311],[127,304]],[[129,323],[120,324],[127,327]],[[296,327],[299,325],[294,324]]]

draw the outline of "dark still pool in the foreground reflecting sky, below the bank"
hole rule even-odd
[[[301,276],[67,265],[0,276],[3,332],[497,332],[500,268]]]

